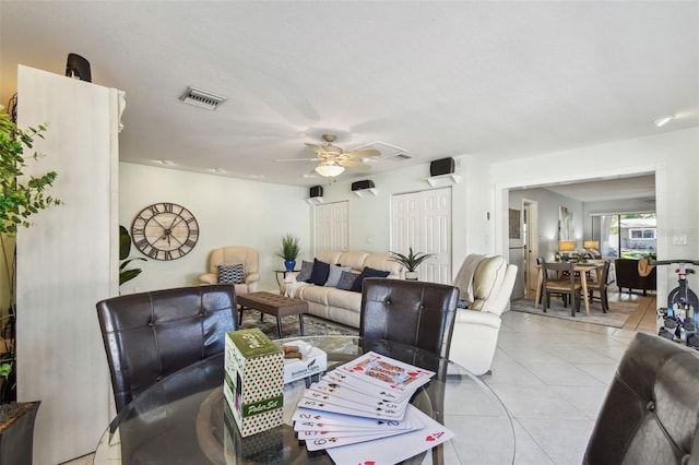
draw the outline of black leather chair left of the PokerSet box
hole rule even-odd
[[[222,353],[236,331],[229,284],[130,294],[97,302],[117,413],[168,374]]]

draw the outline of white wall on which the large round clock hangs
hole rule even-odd
[[[128,130],[125,129],[125,130]],[[224,246],[247,246],[260,253],[260,290],[279,289],[273,270],[282,236],[298,236],[301,257],[310,258],[308,189],[201,175],[128,163],[119,164],[119,224],[131,230],[135,215],[156,202],[187,207],[199,223],[199,241],[181,259],[134,261],[141,275],[121,286],[122,294],[199,284],[209,252]],[[131,257],[144,257],[135,247]]]

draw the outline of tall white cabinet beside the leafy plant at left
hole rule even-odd
[[[17,397],[42,401],[34,464],[95,450],[109,422],[110,381],[95,303],[118,294],[118,131],[123,93],[17,70],[19,126],[48,123],[31,170],[58,172],[17,235]]]

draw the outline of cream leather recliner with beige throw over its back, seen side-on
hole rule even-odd
[[[466,257],[454,286],[467,309],[457,311],[449,358],[474,374],[490,370],[498,343],[500,315],[509,308],[517,266],[501,255]]]

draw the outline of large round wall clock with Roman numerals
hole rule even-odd
[[[154,203],[131,225],[135,247],[154,260],[175,260],[188,254],[199,239],[199,224],[191,212],[176,203]]]

